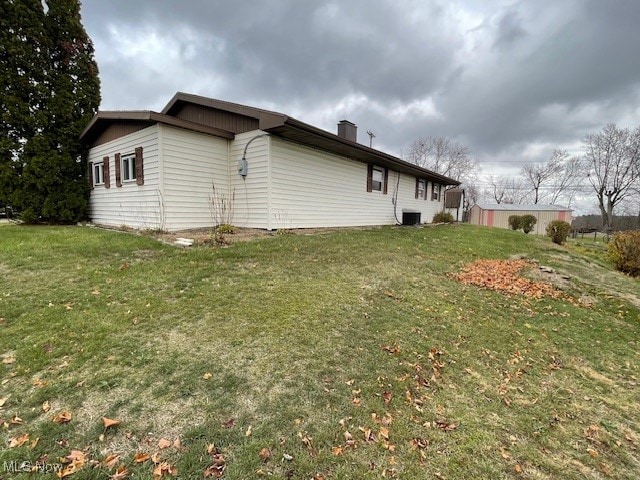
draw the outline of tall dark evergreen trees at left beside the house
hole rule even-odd
[[[100,104],[78,0],[0,1],[0,206],[75,222],[88,185],[79,136]]]

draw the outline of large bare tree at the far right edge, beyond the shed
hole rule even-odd
[[[638,188],[640,127],[631,131],[610,123],[583,140],[583,168],[596,192],[602,225],[611,229],[613,210]]]

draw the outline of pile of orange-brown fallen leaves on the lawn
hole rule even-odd
[[[453,277],[465,285],[477,285],[509,295],[560,298],[562,293],[552,285],[520,275],[523,270],[535,266],[528,260],[476,260]]]

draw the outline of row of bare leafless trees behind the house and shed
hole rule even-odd
[[[600,210],[600,228],[615,229],[614,212],[640,221],[640,127],[611,123],[586,135],[582,154],[556,149],[546,162],[525,165],[518,177],[490,176],[479,188],[478,164],[468,147],[444,137],[415,140],[404,158],[462,182],[468,211],[481,198],[495,203],[571,206],[578,194],[591,192]]]

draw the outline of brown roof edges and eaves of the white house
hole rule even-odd
[[[216,127],[204,125],[193,121],[193,118],[190,119],[191,121],[177,118],[181,110],[189,104],[206,107],[225,114],[233,114],[253,119],[251,121],[257,121],[258,129],[285,140],[342,155],[364,163],[373,163],[415,177],[426,178],[443,185],[460,185],[460,182],[457,180],[406,162],[380,150],[339,137],[334,133],[301,122],[283,113],[183,92],[176,93],[161,113],[131,110],[98,112],[82,132],[80,140],[91,145],[109,126],[125,121],[148,122],[149,124],[164,123],[229,139],[234,138],[235,133],[239,133],[225,128],[216,128],[220,127],[220,125]]]

